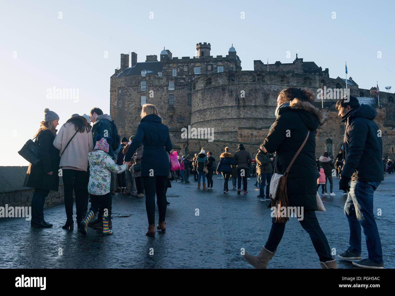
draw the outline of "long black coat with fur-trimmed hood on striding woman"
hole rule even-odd
[[[287,178],[290,205],[304,207],[305,211],[317,210],[315,131],[324,120],[320,109],[309,102],[294,99],[289,106],[279,109],[279,115],[263,142],[267,152],[276,152],[276,172],[284,174],[310,130],[307,142],[296,157]],[[288,130],[290,137],[287,137]]]

